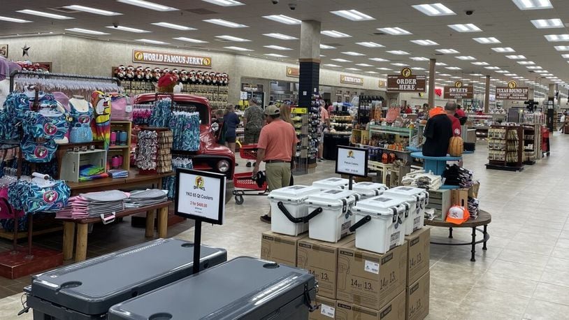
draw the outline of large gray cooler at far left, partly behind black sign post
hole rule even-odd
[[[157,239],[34,275],[27,305],[34,319],[106,319],[112,305],[193,273],[194,244]],[[227,261],[224,249],[201,246],[200,270]]]

